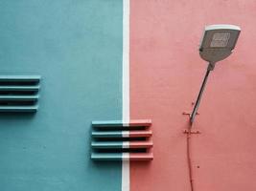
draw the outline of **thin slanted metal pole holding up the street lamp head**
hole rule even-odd
[[[208,75],[210,74],[211,71],[214,70],[214,67],[215,67],[215,63],[209,63],[207,71],[206,71],[206,74],[204,75],[204,78],[203,78],[203,81],[202,81],[202,84],[201,84],[201,87],[200,87],[200,91],[199,91],[199,94],[198,94],[197,102],[196,102],[196,104],[194,106],[194,109],[193,109],[193,112],[192,112],[192,114],[190,116],[190,123],[191,124],[193,124],[194,119],[195,119],[195,117],[197,115],[200,99],[201,99],[202,93],[204,91],[205,84],[206,84],[207,79],[208,79]]]

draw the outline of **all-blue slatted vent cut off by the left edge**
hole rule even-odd
[[[36,112],[39,75],[0,75],[0,112]]]

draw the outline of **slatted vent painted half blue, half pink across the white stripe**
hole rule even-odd
[[[91,159],[151,160],[150,119],[92,121]]]

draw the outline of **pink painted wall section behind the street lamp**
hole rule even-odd
[[[206,69],[203,27],[235,24],[235,52],[210,74],[192,137],[196,191],[256,190],[256,1],[131,0],[130,115],[152,119],[151,162],[131,162],[133,191],[190,190],[188,117]]]

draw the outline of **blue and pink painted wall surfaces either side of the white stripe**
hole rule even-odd
[[[206,64],[204,25],[241,26],[194,125],[195,190],[256,190],[256,2],[130,0],[130,118],[151,118],[151,162],[130,190],[190,190],[188,117]],[[0,190],[121,190],[121,162],[89,159],[90,122],[122,118],[123,2],[0,1],[0,74],[41,74],[39,111],[0,115]],[[123,172],[124,173],[124,172]]]

